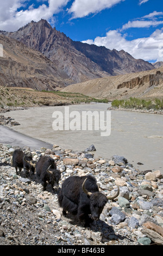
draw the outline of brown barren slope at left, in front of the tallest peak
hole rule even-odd
[[[54,63],[41,52],[5,35],[0,35],[0,44],[3,45],[0,86],[59,90],[73,83],[69,78],[62,78]]]

